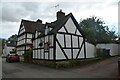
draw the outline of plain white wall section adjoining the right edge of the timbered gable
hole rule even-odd
[[[95,57],[96,47],[88,42],[85,42],[85,44],[86,44],[86,58]]]

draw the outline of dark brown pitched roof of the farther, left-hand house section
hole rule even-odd
[[[29,20],[23,20],[21,21],[21,23],[23,23],[24,27],[25,27],[25,32],[29,32],[29,33],[34,33],[35,30],[43,30],[44,28],[44,24],[42,24],[42,22],[40,20],[35,21],[29,21]]]

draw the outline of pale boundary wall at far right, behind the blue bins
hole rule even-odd
[[[118,44],[97,44],[96,48],[101,49],[110,49],[110,55],[115,56],[118,55]]]

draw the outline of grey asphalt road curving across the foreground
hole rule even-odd
[[[72,69],[52,69],[28,63],[7,63],[2,60],[3,78],[116,78],[117,57]]]

